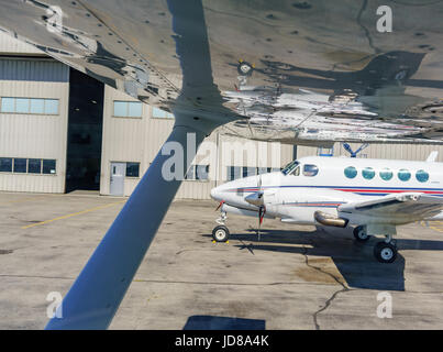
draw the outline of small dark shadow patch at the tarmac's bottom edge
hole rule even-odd
[[[184,330],[265,330],[266,320],[218,316],[191,316]]]

